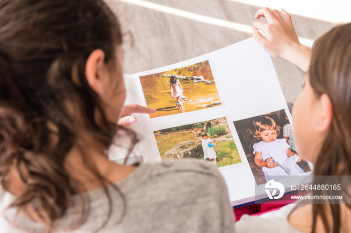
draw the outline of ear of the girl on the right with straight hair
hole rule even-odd
[[[329,96],[325,93],[320,96],[319,101],[321,105],[321,114],[316,130],[317,132],[325,132],[328,130],[331,123],[333,107]]]

